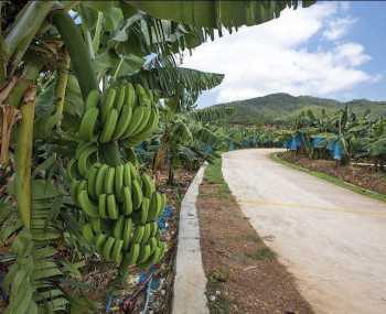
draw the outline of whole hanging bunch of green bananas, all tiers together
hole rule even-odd
[[[104,97],[93,90],[78,130],[82,141],[67,164],[69,192],[85,217],[83,236],[105,260],[117,264],[147,268],[165,253],[158,218],[167,197],[138,171],[131,148],[129,161],[122,162],[117,141],[135,145],[158,122],[153,95],[140,85],[109,88]]]

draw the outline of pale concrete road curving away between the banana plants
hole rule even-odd
[[[269,159],[223,155],[244,214],[317,313],[386,313],[386,205]]]

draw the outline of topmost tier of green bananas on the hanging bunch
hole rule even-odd
[[[133,147],[154,132],[160,118],[152,91],[139,84],[111,87],[103,97],[92,90],[85,108],[78,137],[86,142],[126,140]]]

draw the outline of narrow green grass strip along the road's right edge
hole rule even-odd
[[[355,192],[355,193],[358,193],[358,194],[362,194],[362,195],[365,195],[365,196],[368,196],[371,198],[374,198],[374,199],[377,199],[377,201],[380,201],[380,202],[385,202],[386,203],[386,195],[384,194],[379,194],[379,193],[376,193],[374,191],[369,191],[369,190],[366,190],[366,188],[363,188],[361,186],[357,186],[357,185],[354,185],[352,183],[349,183],[349,182],[345,182],[344,180],[340,178],[340,177],[336,177],[336,176],[333,176],[333,175],[330,175],[330,174],[326,174],[324,172],[319,172],[319,171],[313,171],[313,170],[309,170],[307,167],[303,167],[303,166],[300,166],[298,164],[294,164],[294,163],[291,163],[291,162],[288,162],[286,160],[282,160],[278,153],[271,153],[269,155],[269,158],[275,161],[275,162],[278,162],[278,163],[281,163],[283,165],[287,165],[289,167],[292,167],[292,169],[296,169],[296,170],[299,170],[299,171],[302,171],[302,172],[305,172],[308,174],[311,174],[315,177],[319,177],[321,180],[324,180],[326,182],[330,182],[332,184],[335,184],[337,186],[341,186],[341,187],[344,187],[344,188],[347,188],[352,192]]]

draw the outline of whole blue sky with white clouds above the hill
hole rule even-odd
[[[386,100],[386,1],[286,9],[196,47],[182,66],[225,74],[200,107],[272,93]]]

